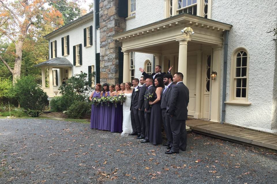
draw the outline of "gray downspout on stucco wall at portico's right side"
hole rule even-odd
[[[223,66],[223,90],[222,90],[222,116],[221,116],[221,124],[225,121],[225,113],[226,113],[226,77],[227,77],[227,54],[228,54],[228,34],[229,30],[224,31],[224,66]]]

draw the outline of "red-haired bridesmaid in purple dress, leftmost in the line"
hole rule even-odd
[[[101,84],[95,85],[95,91],[93,91],[89,97],[89,100],[91,101],[92,98],[98,97],[100,98],[100,90],[101,90]],[[99,122],[99,112],[100,112],[100,105],[93,105],[91,106],[91,116],[90,116],[90,128],[91,129],[98,129],[98,122]]]

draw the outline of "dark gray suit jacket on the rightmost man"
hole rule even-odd
[[[173,86],[168,101],[169,115],[176,116],[176,120],[188,119],[189,91],[184,83]]]

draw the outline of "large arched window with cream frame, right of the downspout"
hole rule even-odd
[[[231,57],[230,99],[227,104],[248,106],[249,54],[245,48],[237,48]]]

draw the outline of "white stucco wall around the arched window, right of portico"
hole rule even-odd
[[[233,25],[228,41],[226,101],[229,101],[230,93],[232,52],[238,47],[245,47],[250,57],[248,101],[252,104],[226,105],[227,123],[276,132],[271,129],[276,48],[272,41],[273,34],[266,33],[276,27],[276,8],[276,1],[212,1],[211,18]]]

